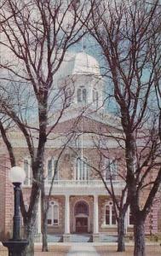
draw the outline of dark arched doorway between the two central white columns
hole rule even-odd
[[[85,201],[78,201],[74,207],[76,233],[89,232],[89,205]]]

